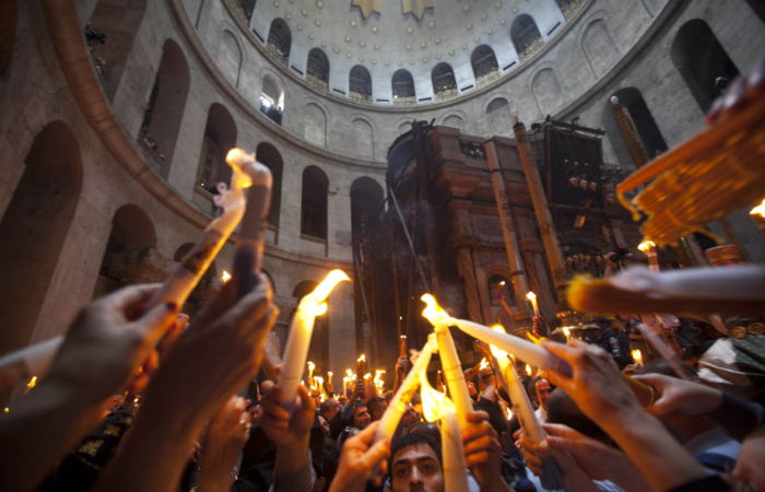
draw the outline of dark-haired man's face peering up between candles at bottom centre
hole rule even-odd
[[[393,492],[443,492],[444,472],[427,444],[405,447],[390,458]]]

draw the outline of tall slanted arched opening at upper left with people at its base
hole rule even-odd
[[[184,52],[173,39],[167,39],[138,133],[139,143],[150,156],[146,162],[156,163],[165,178],[169,175],[190,80]]]

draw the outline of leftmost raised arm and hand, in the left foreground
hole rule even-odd
[[[0,490],[31,490],[93,431],[108,398],[125,390],[177,316],[160,305],[140,318],[160,285],[133,285],[82,309],[48,375],[0,419]]]

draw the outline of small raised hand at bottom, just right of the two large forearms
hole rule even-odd
[[[199,460],[199,489],[228,492],[231,475],[249,438],[250,413],[244,398],[231,397],[208,423]]]

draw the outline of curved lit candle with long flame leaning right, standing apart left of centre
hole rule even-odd
[[[290,418],[295,407],[297,385],[303,376],[308,344],[314,332],[316,316],[327,312],[325,300],[329,296],[334,285],[343,280],[351,280],[342,270],[332,270],[310,294],[303,297],[297,305],[297,312],[292,318],[290,338],[287,338],[282,360],[282,370],[279,373],[279,388],[284,393],[282,408],[290,412]]]

